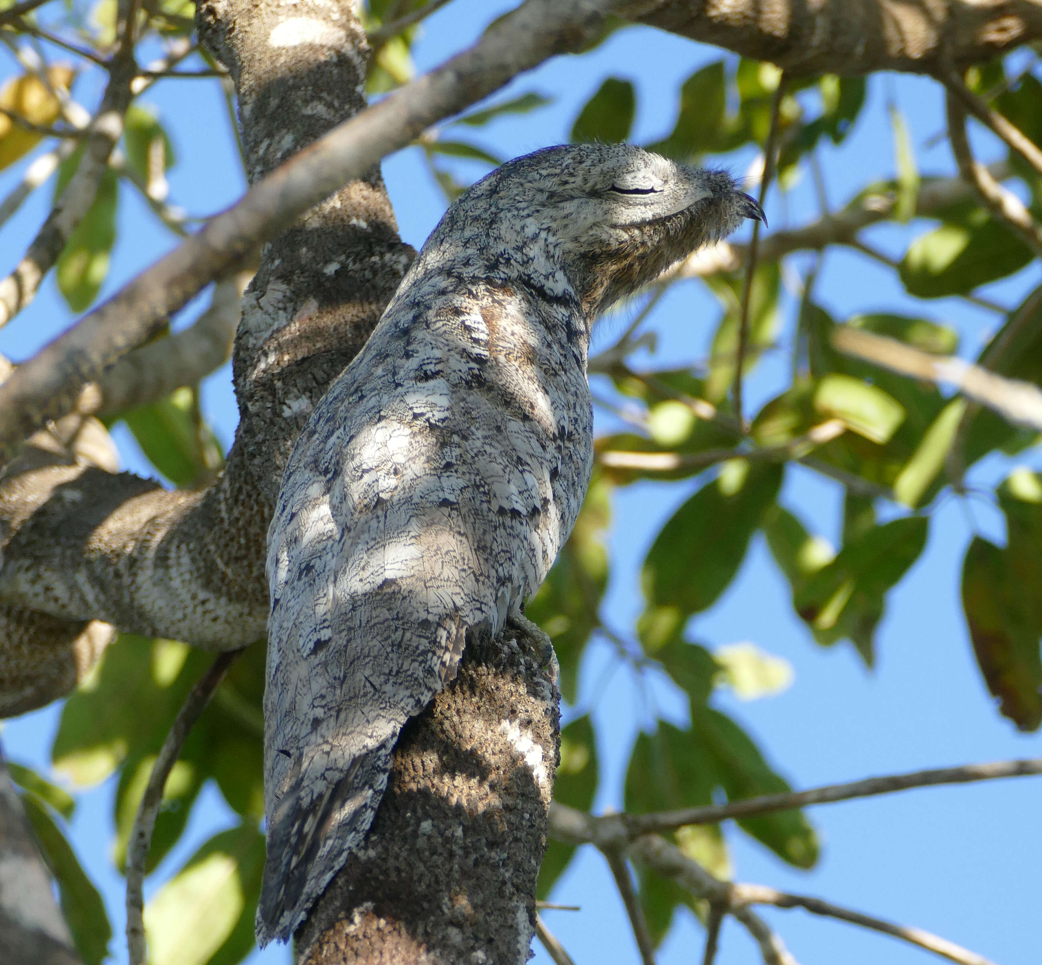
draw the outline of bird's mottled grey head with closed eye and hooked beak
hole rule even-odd
[[[764,219],[725,171],[628,144],[549,147],[507,162],[450,212],[494,258],[567,280],[592,319],[697,248]]]

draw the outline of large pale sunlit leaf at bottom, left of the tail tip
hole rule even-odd
[[[249,825],[209,839],[145,908],[151,965],[233,965],[253,947],[264,836]]]

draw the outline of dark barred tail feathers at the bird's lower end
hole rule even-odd
[[[324,792],[306,771],[291,773],[289,787],[268,823],[257,944],[288,941],[312,906],[361,844],[373,823],[391,772],[394,734],[351,758],[340,777],[329,775]]]

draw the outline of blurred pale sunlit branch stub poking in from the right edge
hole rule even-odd
[[[1042,389],[1006,379],[954,356],[937,356],[897,339],[837,325],[833,344],[845,355],[874,362],[923,382],[953,385],[961,394],[987,406],[1015,426],[1042,430]]]

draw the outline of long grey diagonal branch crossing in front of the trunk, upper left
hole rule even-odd
[[[554,53],[575,49],[607,13],[631,7],[623,0],[526,0],[472,48],[282,164],[238,204],[19,367],[0,387],[0,455],[9,457],[34,428],[69,411],[86,382],[147,341],[195,292],[303,211],[437,121]]]

